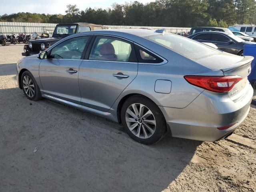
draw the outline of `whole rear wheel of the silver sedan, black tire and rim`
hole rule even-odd
[[[143,109],[141,112],[140,107]],[[121,109],[121,121],[127,134],[133,140],[146,145],[160,141],[167,130],[161,110],[144,96],[132,96],[124,102]]]

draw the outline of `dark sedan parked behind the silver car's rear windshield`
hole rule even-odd
[[[245,44],[256,44],[254,42],[244,41],[234,34],[225,32],[199,32],[188,38],[199,42],[210,42],[215,44],[220,50],[243,56]]]

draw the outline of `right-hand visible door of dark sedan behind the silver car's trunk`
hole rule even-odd
[[[213,44],[216,44],[218,49],[228,53],[236,54],[236,43],[228,42],[228,40],[231,40],[231,39],[224,34],[214,34],[214,33],[210,34],[210,41]]]

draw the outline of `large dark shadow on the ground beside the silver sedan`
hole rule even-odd
[[[146,146],[88,112],[30,101],[19,88],[0,88],[0,95],[2,191],[160,192],[202,143],[165,137]]]

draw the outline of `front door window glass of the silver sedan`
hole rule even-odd
[[[81,59],[86,44],[90,36],[80,36],[70,38],[54,48],[50,53],[50,58],[54,59]]]

